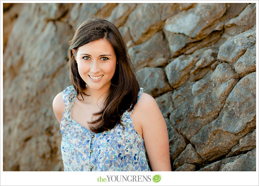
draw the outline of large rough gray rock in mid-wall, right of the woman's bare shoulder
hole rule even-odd
[[[211,74],[175,91],[172,94],[175,110],[170,114],[175,129],[189,140],[218,117],[237,81],[238,76],[230,65],[221,63]]]

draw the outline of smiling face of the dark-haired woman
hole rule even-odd
[[[79,47],[75,60],[87,88],[109,89],[115,72],[116,55],[107,39],[94,40]]]

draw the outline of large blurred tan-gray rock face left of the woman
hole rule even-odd
[[[71,28],[60,21],[45,22],[56,18],[58,5],[40,7],[24,5],[4,53],[6,170],[63,169],[52,100],[70,84],[66,51]]]

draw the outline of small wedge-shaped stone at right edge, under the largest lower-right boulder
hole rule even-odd
[[[240,138],[238,144],[232,147],[231,151],[228,153],[226,157],[230,157],[233,155],[241,154],[246,151],[250,151],[256,148],[256,129],[252,132],[249,132],[243,138]]]

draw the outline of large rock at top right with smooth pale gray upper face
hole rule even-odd
[[[224,22],[219,21],[226,5],[198,3],[194,8],[168,18],[163,28],[172,57],[216,43]]]

